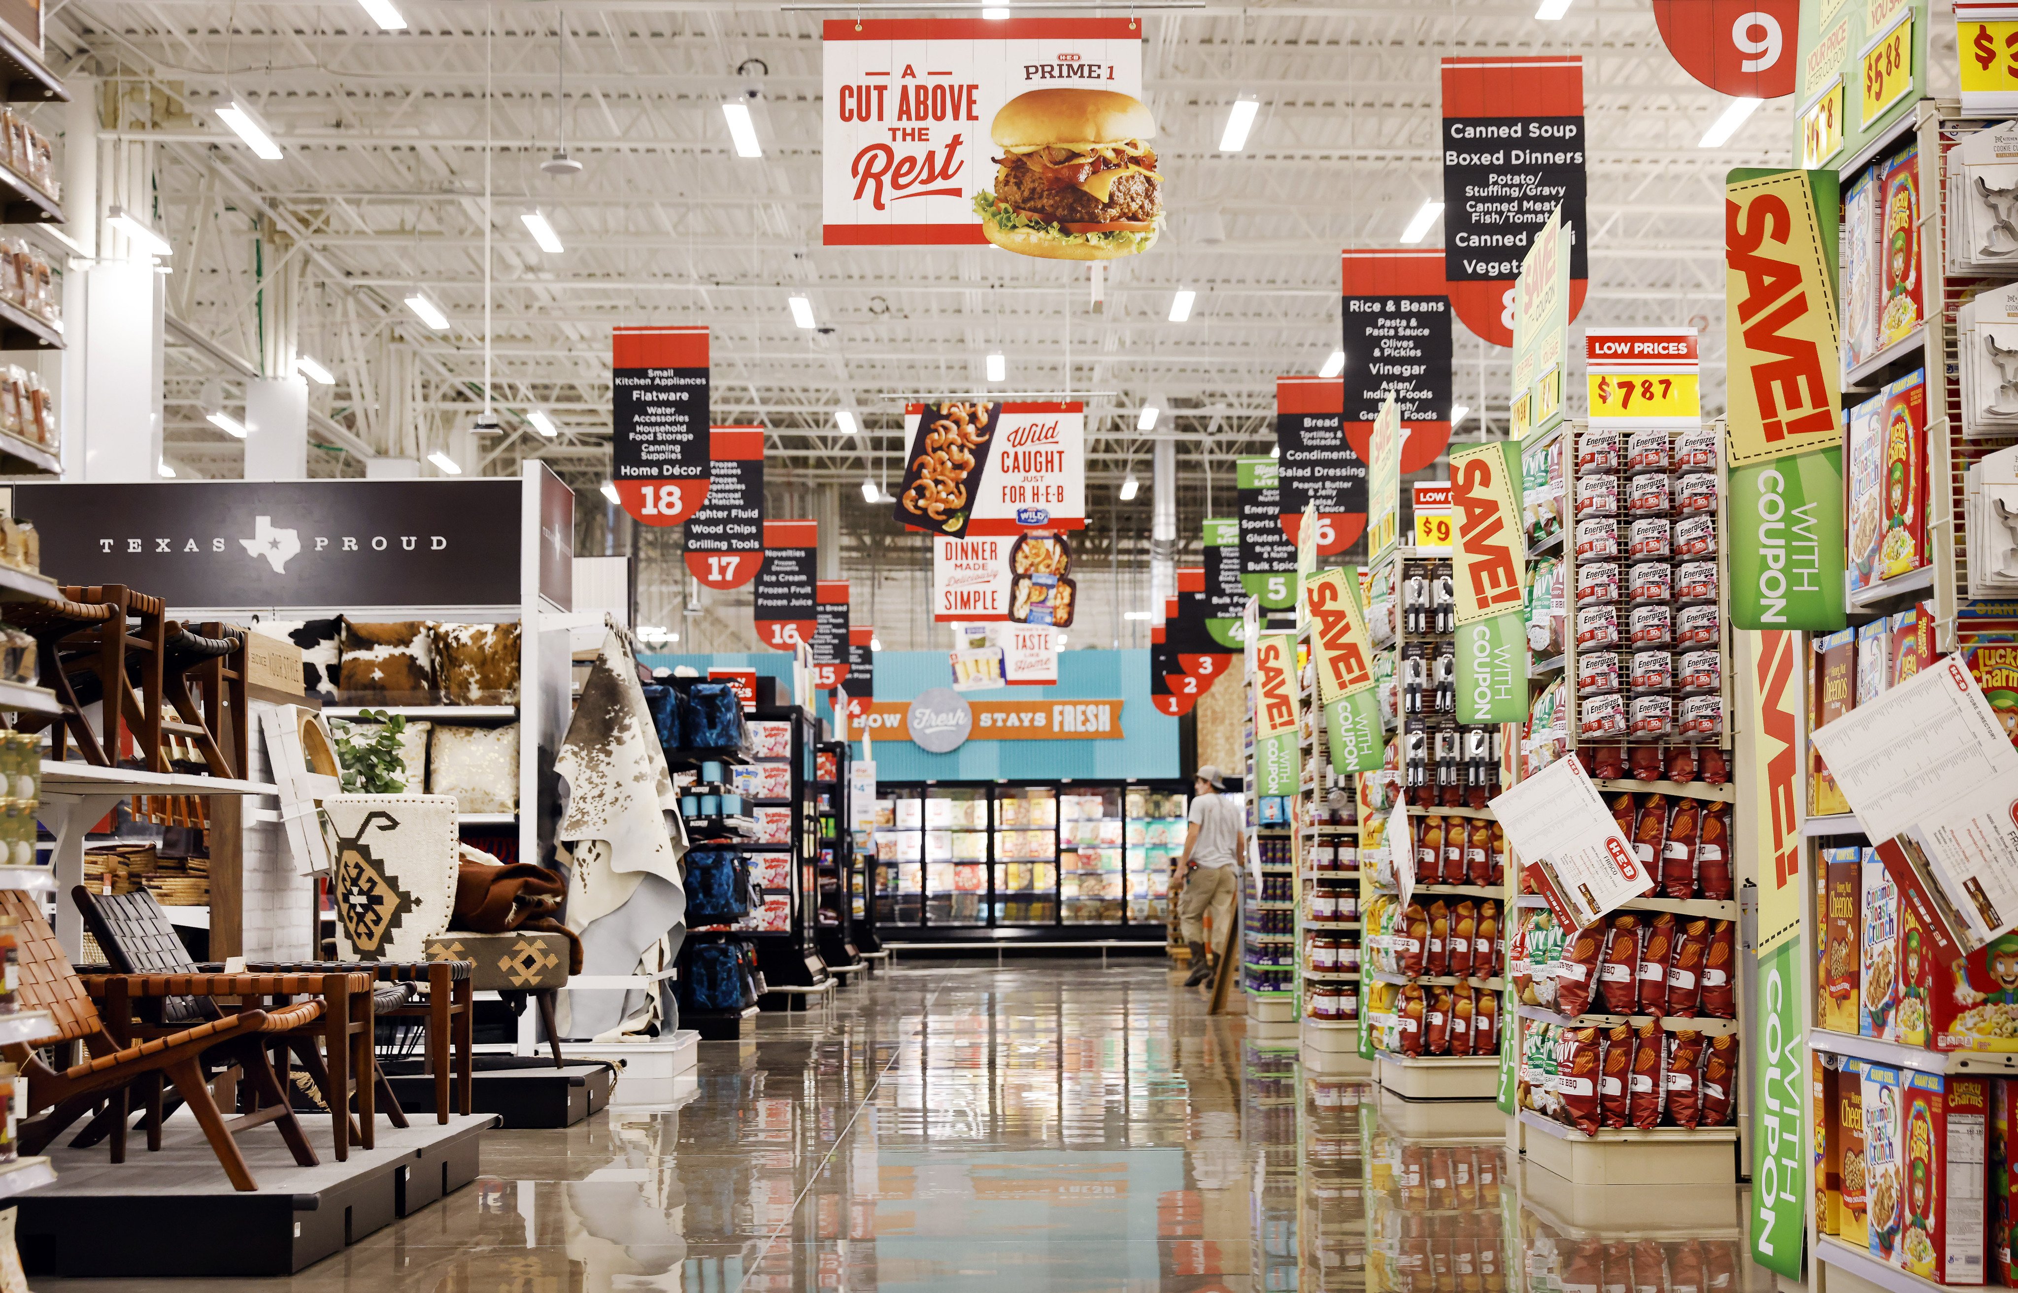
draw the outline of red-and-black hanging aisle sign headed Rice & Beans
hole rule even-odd
[[[1409,428],[1403,474],[1421,472],[1451,442],[1451,288],[1443,252],[1342,252],[1346,319],[1346,440],[1372,462],[1380,401]]]

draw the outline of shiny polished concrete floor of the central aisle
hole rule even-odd
[[[910,960],[702,1043],[676,1107],[488,1134],[476,1184],[295,1279],[34,1287],[1770,1289],[1737,1188],[1570,1188],[1493,1111],[1382,1103],[1174,984],[1146,956]]]

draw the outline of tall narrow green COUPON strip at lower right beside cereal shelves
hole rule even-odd
[[[1808,1134],[1802,1111],[1808,1047],[1800,1033],[1798,938],[1760,960],[1758,1039],[1752,1053],[1752,1261],[1800,1279],[1808,1198]]]

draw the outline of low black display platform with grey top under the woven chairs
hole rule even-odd
[[[260,1128],[238,1142],[258,1190],[232,1188],[194,1120],[170,1120],[157,1154],[129,1138],[123,1164],[105,1146],[52,1148],[54,1184],[20,1198],[20,1259],[57,1277],[295,1275],[476,1180],[480,1134],[496,1122],[381,1122],[375,1150],[337,1162],[327,1124],[305,1120],[313,1168]]]

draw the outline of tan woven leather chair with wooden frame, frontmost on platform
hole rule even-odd
[[[28,1101],[22,1113],[32,1122],[20,1126],[20,1152],[38,1154],[50,1140],[63,1134],[87,1109],[105,1099],[123,1103],[135,1079],[163,1075],[188,1101],[204,1138],[224,1166],[224,1174],[238,1190],[256,1190],[252,1170],[244,1154],[238,1152],[234,1136],[264,1124],[278,1124],[281,1138],[301,1166],[315,1166],[315,1150],[303,1136],[295,1120],[287,1093],[266,1063],[266,1039],[311,1025],[323,1013],[319,992],[369,992],[371,980],[365,974],[343,976],[285,976],[285,974],[194,974],[194,976],[125,976],[99,974],[89,980],[79,978],[71,968],[57,934],[42,920],[36,900],[22,890],[0,890],[0,914],[14,916],[18,926],[18,974],[16,992],[22,1007],[48,1011],[52,1017],[48,1037],[32,1043],[0,1047],[12,1063],[28,1077]],[[274,1011],[246,1009],[222,1015],[194,1027],[131,1041],[125,1021],[133,1015],[135,1001],[157,996],[311,996]],[[93,996],[103,996],[107,1015],[99,1015]],[[111,1027],[107,1027],[107,1017]],[[50,1069],[42,1063],[34,1047],[59,1041],[81,1041],[89,1059]],[[252,1081],[256,1099],[270,1101],[244,1118],[226,1120],[210,1087],[204,1083],[204,1057],[224,1059],[244,1067]],[[40,1118],[36,1118],[40,1113]],[[155,1142],[157,1132],[155,1132]],[[125,1120],[113,1132],[113,1162],[125,1160]]]

